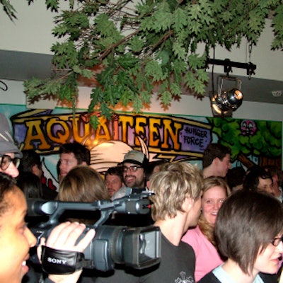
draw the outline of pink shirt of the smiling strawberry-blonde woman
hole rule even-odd
[[[183,236],[182,241],[188,243],[195,250],[196,282],[198,282],[208,272],[212,271],[215,267],[223,263],[223,260],[221,260],[216,248],[200,231],[199,226],[195,229],[188,229],[187,233]]]

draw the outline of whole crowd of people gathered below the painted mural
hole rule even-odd
[[[141,151],[125,153],[104,175],[90,166],[90,151],[76,141],[59,151],[58,192],[42,177],[40,155],[20,151],[0,114],[0,282],[278,282],[283,253],[282,171],[276,166],[231,168],[231,150],[212,143],[202,170],[189,162],[151,161]],[[110,272],[63,274],[40,269],[30,250],[55,250],[78,260],[95,236],[88,229],[97,212],[66,212],[47,238],[25,223],[27,200],[112,202],[132,192],[151,192],[151,213],[112,214],[109,224],[155,226],[161,232],[161,262],[137,270],[116,264]],[[74,260],[74,262],[76,262]],[[83,260],[83,259],[81,259]],[[67,274],[69,273],[69,274]]]

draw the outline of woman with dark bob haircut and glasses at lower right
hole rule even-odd
[[[219,209],[215,224],[219,251],[228,260],[200,283],[277,282],[282,233],[283,207],[275,197],[243,190],[231,195]]]

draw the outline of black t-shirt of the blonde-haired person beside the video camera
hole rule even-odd
[[[195,283],[195,253],[187,243],[174,246],[161,236],[161,262],[144,270],[115,268],[112,276],[98,277],[96,283]]]

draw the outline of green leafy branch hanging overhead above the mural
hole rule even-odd
[[[3,1],[3,0],[1,0]],[[47,0],[54,12],[54,75],[25,81],[25,93],[74,101],[78,79],[96,79],[88,111],[111,116],[117,104],[139,112],[158,92],[163,106],[182,88],[202,97],[212,47],[230,50],[246,38],[256,45],[272,11],[272,49],[283,47],[283,4],[278,0]],[[28,4],[32,4],[28,0]],[[204,51],[198,54],[202,44]],[[93,72],[100,67],[100,72]],[[92,117],[97,127],[98,117]]]

